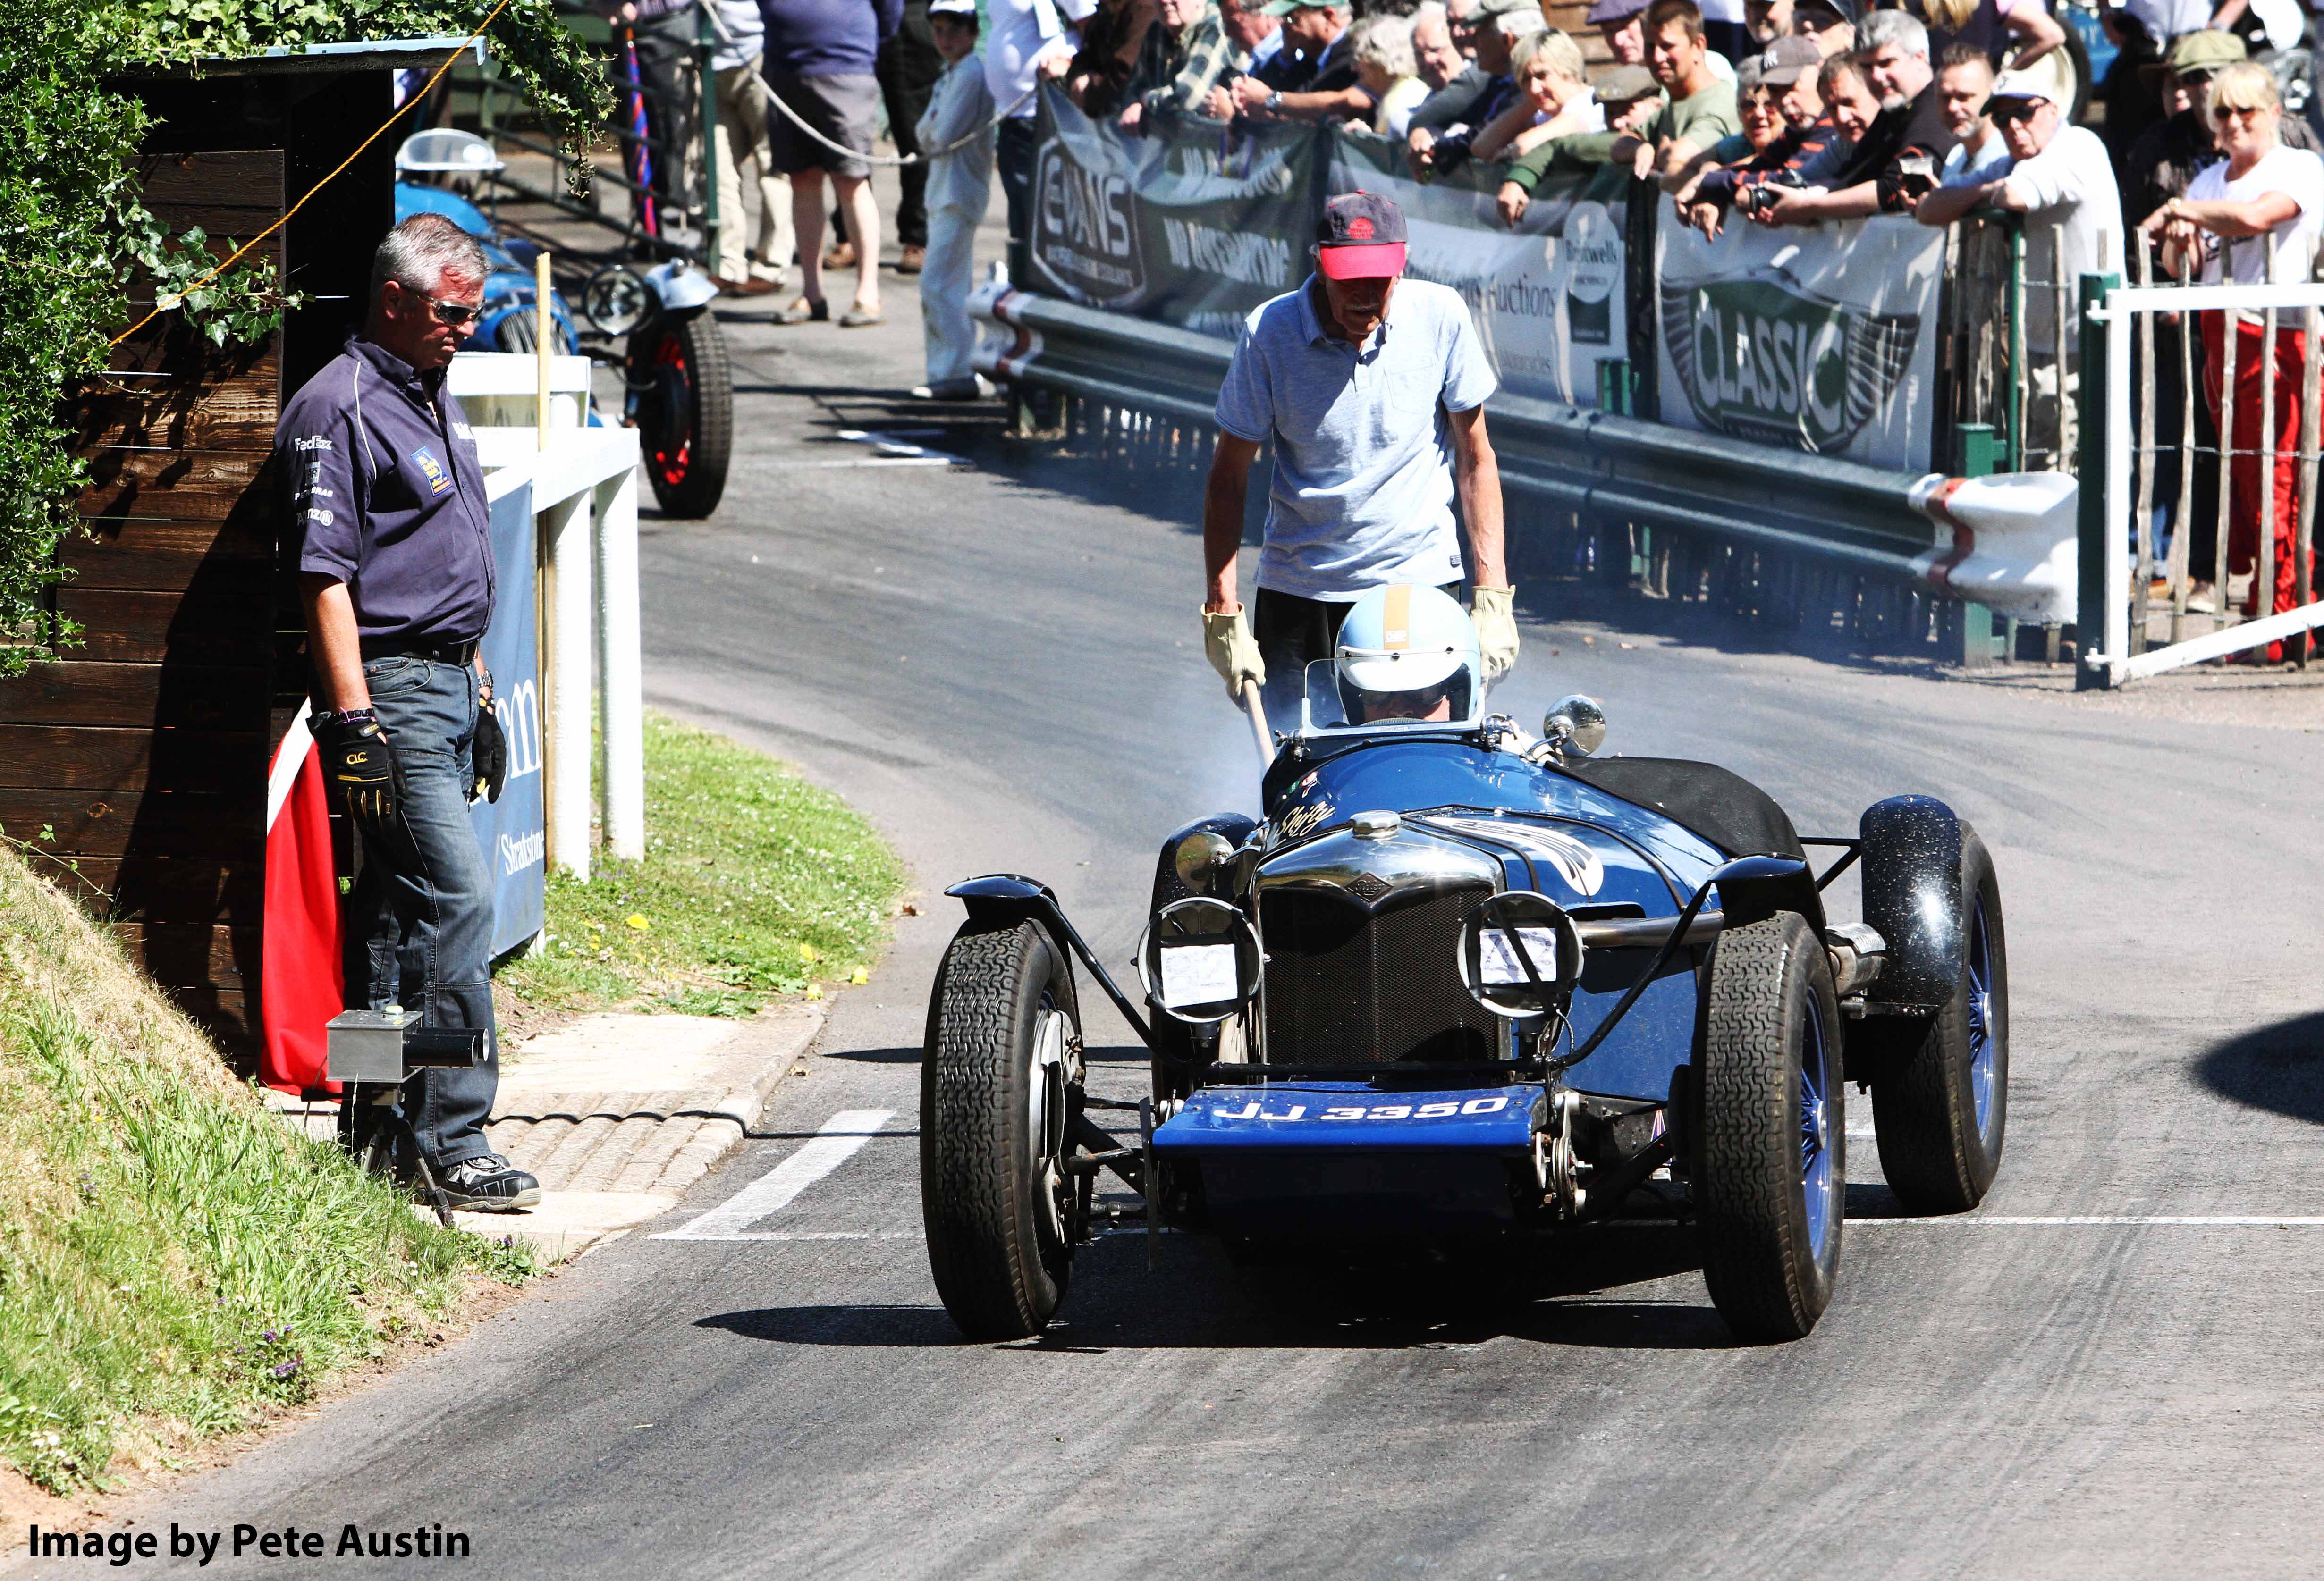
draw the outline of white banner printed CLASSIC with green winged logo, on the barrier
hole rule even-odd
[[[1945,233],[1657,226],[1662,421],[1752,444],[1929,470]]]

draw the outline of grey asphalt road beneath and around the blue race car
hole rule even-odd
[[[1043,1342],[962,1344],[913,1142],[944,884],[1041,874],[1122,960],[1155,839],[1255,795],[1167,491],[1027,470],[992,409],[890,405],[920,377],[890,293],[871,332],[732,326],[746,453],[716,521],[646,525],[646,667],[655,704],[876,818],[920,916],[769,1135],[655,1230],[834,1114],[892,1118],[769,1239],[621,1242],[144,1518],[442,1523],[472,1569],[569,1581],[2315,1574],[2324,1225],[2022,1223],[2324,1216],[2315,693],[2259,711],[2305,728],[2161,718],[1624,630],[1645,616],[1536,581],[1497,693],[1520,716],[1594,693],[1608,749],[1724,760],[1810,832],[1896,791],[1982,830],[2015,967],[1987,1207],[1859,1223],[1783,1348],[1729,1342],[1683,1232],[1606,1237],[1515,1307],[1190,1239],[1150,1272],[1109,1237]],[[841,465],[876,460],[844,428],[971,465]],[[1136,1090],[1088,1002],[1099,1088]],[[1850,1125],[1850,1214],[1887,1218],[1871,1107]]]

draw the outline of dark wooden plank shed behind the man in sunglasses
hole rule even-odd
[[[153,116],[146,207],[172,237],[200,226],[223,256],[379,130],[397,72],[456,46],[316,46],[119,81]],[[0,681],[0,828],[77,863],[86,884],[63,884],[237,1060],[260,1037],[267,758],[304,693],[267,456],[284,398],[363,309],[395,221],[400,135],[265,242],[311,298],[279,335],[218,351],[163,314],[77,395],[86,532],[60,551],[53,607],[86,628],[84,646]],[[132,319],[146,307],[132,302]]]

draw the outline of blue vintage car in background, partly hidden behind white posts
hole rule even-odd
[[[395,153],[395,221],[442,214],[476,237],[490,274],[483,281],[483,314],[465,349],[532,353],[539,344],[535,260],[541,249],[504,237],[483,209],[430,181],[490,179],[497,170],[500,156],[474,133],[414,133]],[[665,516],[709,516],[725,495],[734,446],[734,374],[725,330],[706,312],[716,295],[711,279],[683,260],[644,274],[611,263],[590,274],[581,293],[581,321],[600,344],[595,358],[623,372],[621,421],[639,430],[646,481]],[[572,307],[555,288],[548,293],[548,337],[553,353],[588,349]]]

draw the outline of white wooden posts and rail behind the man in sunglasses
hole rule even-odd
[[[634,428],[588,428],[588,358],[548,360],[548,435],[535,425],[541,358],[462,351],[451,393],[476,430],[486,493],[525,488],[539,525],[539,632],[546,691],[548,863],[590,872],[590,660],[604,700],[597,737],[607,849],[646,856],[644,679],[637,611]],[[486,421],[490,419],[490,421]],[[593,598],[595,593],[595,598]],[[595,644],[590,637],[595,635]]]

